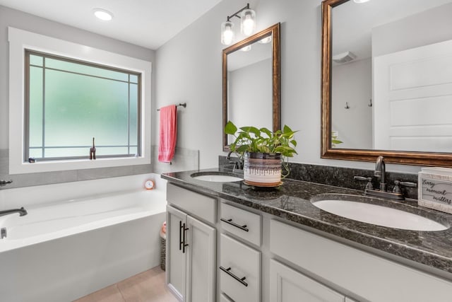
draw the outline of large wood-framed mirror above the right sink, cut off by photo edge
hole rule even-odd
[[[452,166],[452,0],[357,2],[322,2],[321,157]]]

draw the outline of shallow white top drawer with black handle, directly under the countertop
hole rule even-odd
[[[221,227],[250,243],[261,245],[261,216],[258,214],[222,203]]]

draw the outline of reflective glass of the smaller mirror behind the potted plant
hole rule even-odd
[[[255,42],[227,56],[227,116],[237,127],[272,129],[271,41]],[[228,137],[228,144],[234,138]]]

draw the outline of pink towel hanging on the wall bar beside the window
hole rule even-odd
[[[177,108],[169,105],[160,108],[160,141],[158,145],[158,161],[171,162],[176,149]]]

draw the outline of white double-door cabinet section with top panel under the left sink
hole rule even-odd
[[[169,289],[180,301],[214,302],[216,229],[206,222],[216,220],[216,199],[168,184],[167,202]]]

